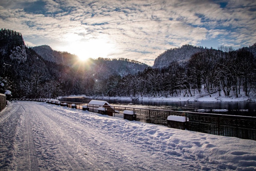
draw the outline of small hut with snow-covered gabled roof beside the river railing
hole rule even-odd
[[[87,108],[90,112],[99,113],[99,111],[98,111],[99,107],[105,107],[106,110],[105,110],[104,114],[107,114],[109,116],[113,116],[114,108],[111,107],[110,104],[107,101],[91,100],[87,104]]]

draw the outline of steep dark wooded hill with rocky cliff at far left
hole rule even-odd
[[[0,30],[0,81],[9,82],[8,89],[14,97],[24,97],[25,92],[38,94],[38,84],[45,82],[49,71],[32,48],[25,46],[21,33],[13,30]]]

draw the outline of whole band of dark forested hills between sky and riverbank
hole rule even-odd
[[[174,52],[167,50],[156,59],[166,61],[161,58],[168,56],[167,66],[149,67],[123,58],[77,62],[74,55],[69,64],[62,63],[59,57],[56,57],[58,62],[49,61],[35,48],[27,47],[21,33],[13,30],[0,30],[0,42],[0,83],[3,83],[0,90],[1,93],[11,91],[13,98],[66,95],[211,97],[213,94],[249,98],[256,94],[255,44],[238,50],[225,46],[217,50],[187,45],[194,50],[174,49],[182,58],[171,58]],[[52,55],[51,58],[55,58],[54,53],[62,53],[53,53],[46,45],[42,47],[47,51],[36,50]],[[65,54],[66,59],[69,55]]]

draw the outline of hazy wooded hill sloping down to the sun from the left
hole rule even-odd
[[[68,52],[55,51],[48,45],[41,45],[32,47],[32,49],[45,61],[54,62],[56,64],[63,64],[66,66],[72,66],[75,61],[78,60],[78,56],[70,54]]]

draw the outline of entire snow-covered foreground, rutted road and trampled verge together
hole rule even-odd
[[[0,170],[256,170],[256,141],[18,101],[0,112]]]

